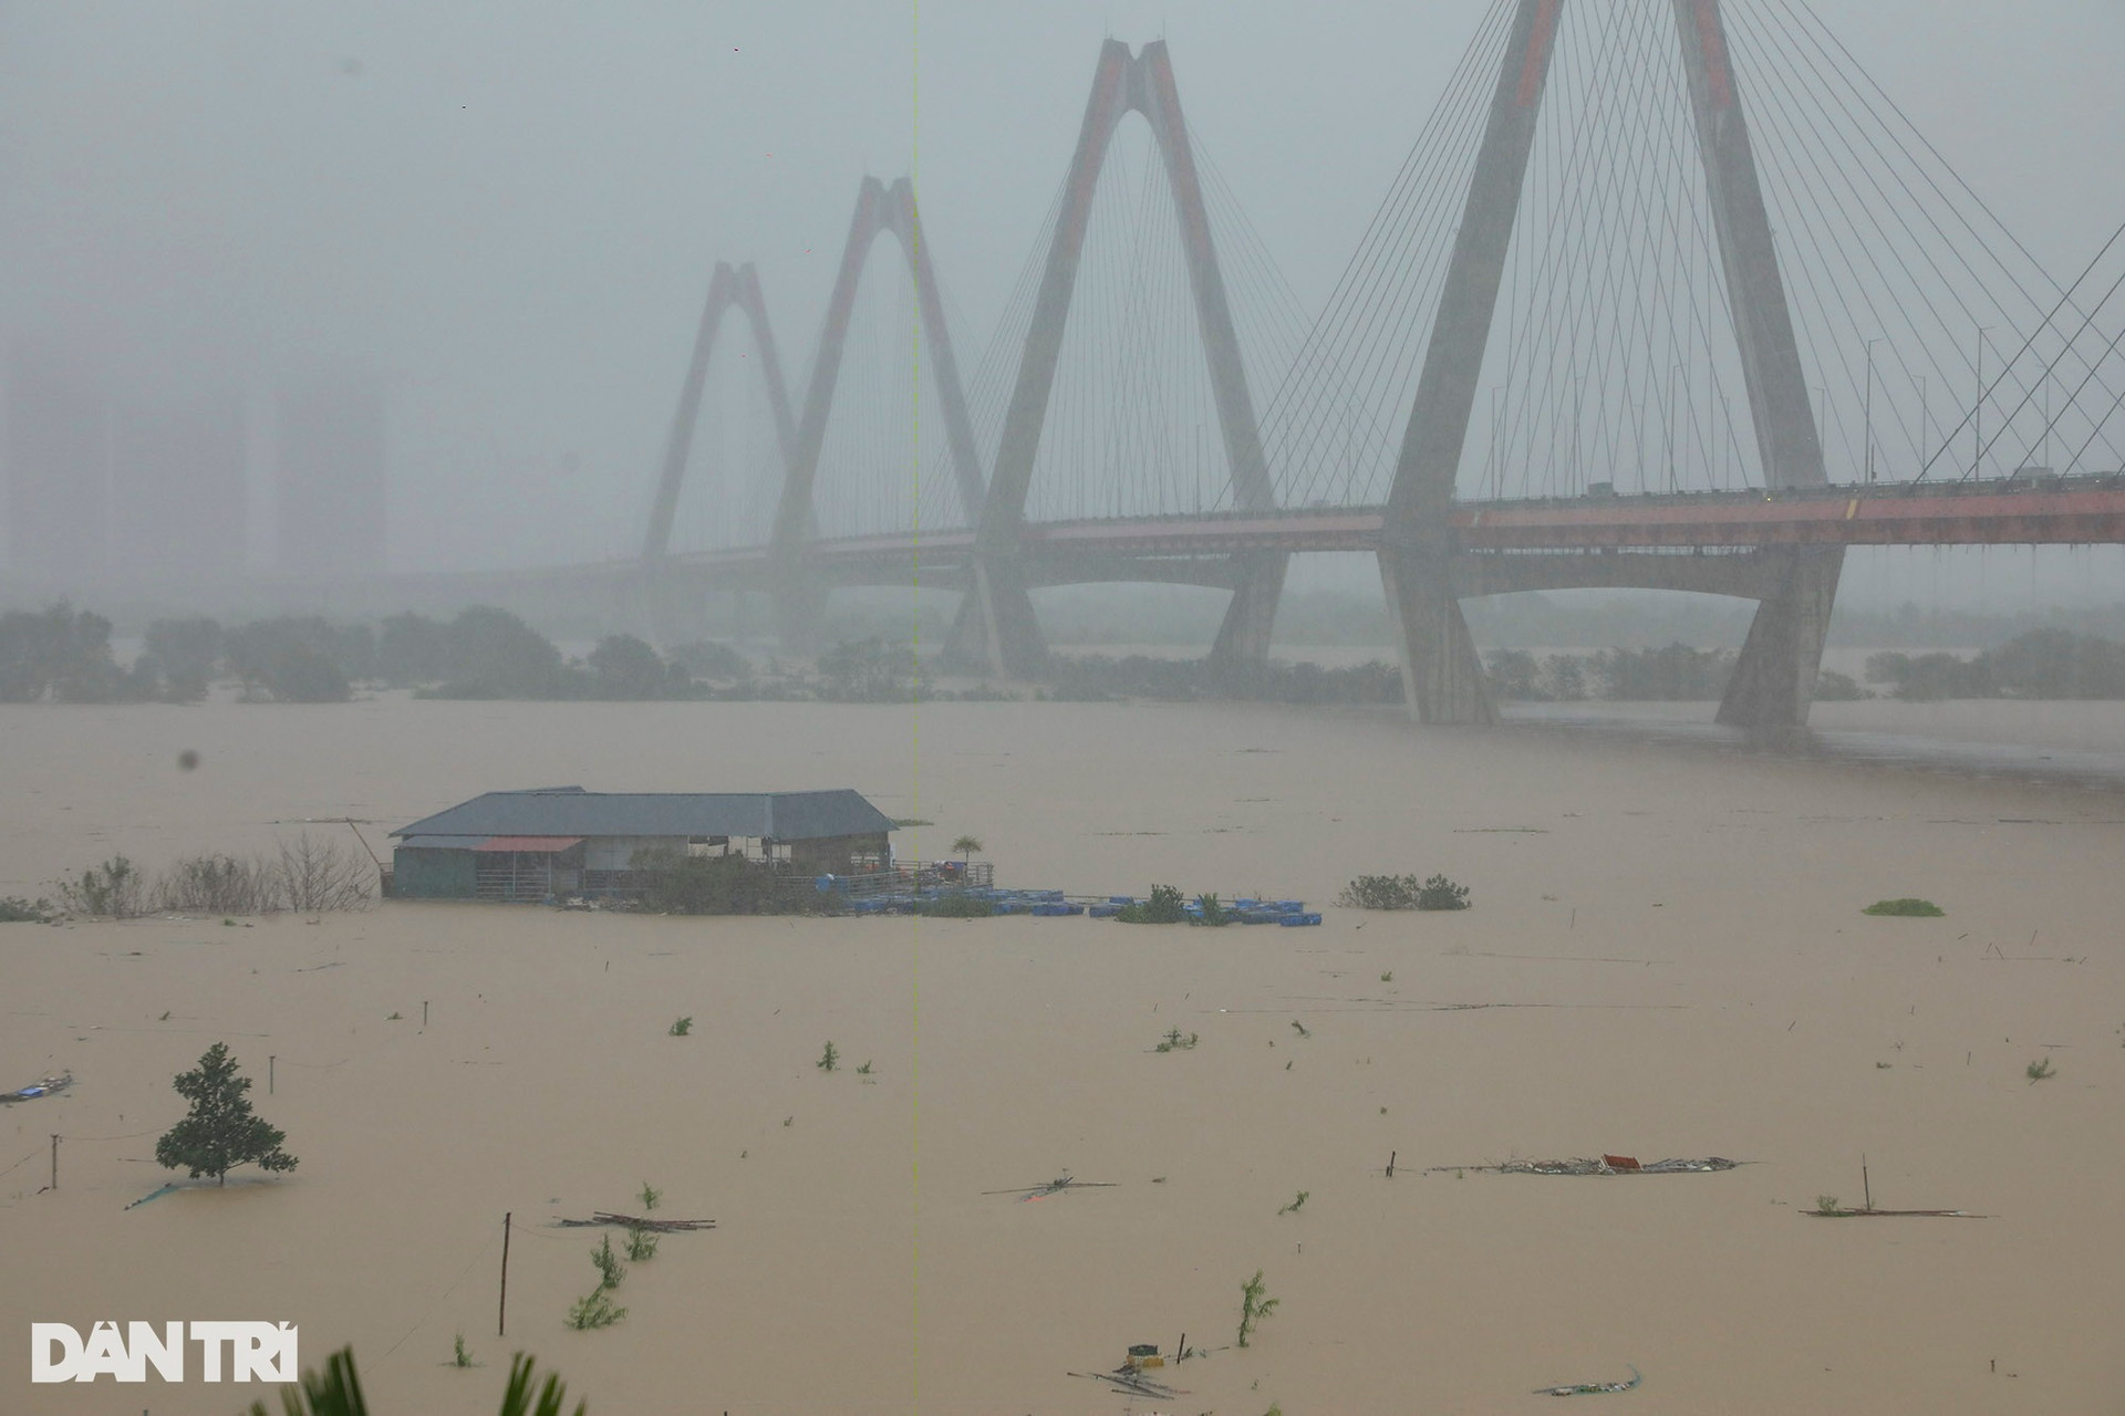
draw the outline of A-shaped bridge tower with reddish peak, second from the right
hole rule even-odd
[[[1247,393],[1247,372],[1239,355],[1239,335],[1232,329],[1232,310],[1218,265],[1218,246],[1211,240],[1194,151],[1182,119],[1179,89],[1173,83],[1173,62],[1164,40],[1152,40],[1137,53],[1130,53],[1122,40],[1107,40],[1099,51],[1092,98],[1086,102],[1062,206],[1048,242],[1048,267],[1018,361],[1018,384],[1003,416],[1003,437],[997,446],[988,499],[975,524],[973,584],[952,633],[950,652],[954,658],[986,662],[999,675],[1035,677],[1048,664],[1048,647],[1033,616],[1022,556],[1026,490],[1041,444],[1048,399],[1054,391],[1056,361],[1062,352],[1062,331],[1077,284],[1077,259],[1092,217],[1092,193],[1099,187],[1099,172],[1114,132],[1130,113],[1141,113],[1150,123],[1158,155],[1164,159],[1167,187],[1179,217],[1182,248],[1188,259],[1188,284],[1209,361],[1218,431],[1224,437],[1226,465],[1232,473],[1232,501],[1247,512],[1275,505],[1260,427]],[[1269,631],[1275,622],[1277,597],[1284,590],[1286,560],[1281,552],[1245,552],[1232,558],[1235,592],[1211,650],[1213,664],[1262,658],[1269,652]]]

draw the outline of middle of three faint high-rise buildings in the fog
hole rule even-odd
[[[128,403],[110,416],[113,565],[128,580],[223,580],[246,554],[244,401]]]

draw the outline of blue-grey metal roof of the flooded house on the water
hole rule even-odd
[[[774,836],[818,841],[892,830],[858,792],[487,792],[393,836]],[[457,841],[453,845],[470,845]]]

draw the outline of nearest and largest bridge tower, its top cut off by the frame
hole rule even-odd
[[[1519,0],[1515,8],[1388,495],[1379,573],[1398,631],[1402,688],[1422,722],[1496,722],[1483,662],[1456,597],[1456,541],[1447,516],[1562,19],[1564,0]],[[1674,0],[1674,21],[1766,480],[1774,490],[1821,486],[1828,482],[1823,452],[1719,0]],[[1815,692],[1842,550],[1772,554],[1770,586],[1719,705],[1719,722],[1798,724]]]

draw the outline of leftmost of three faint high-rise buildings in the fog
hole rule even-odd
[[[106,420],[94,374],[23,342],[6,380],[6,546],[11,575],[76,586],[104,571]]]

